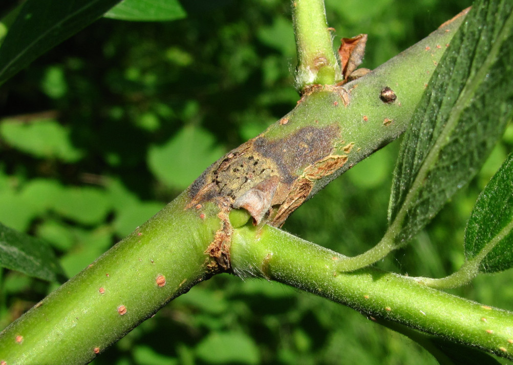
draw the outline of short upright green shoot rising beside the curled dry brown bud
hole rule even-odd
[[[342,75],[326,23],[324,0],[294,0],[292,14],[298,50],[298,89],[340,81]]]

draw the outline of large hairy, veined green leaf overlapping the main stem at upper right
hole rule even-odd
[[[398,241],[476,175],[511,118],[512,7],[478,1],[429,82],[394,171],[388,218]]]

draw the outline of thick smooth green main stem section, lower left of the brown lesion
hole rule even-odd
[[[8,326],[0,333],[0,361],[88,363],[172,298],[207,279],[204,252],[219,219],[214,207],[184,210],[186,202],[187,194],[175,199]]]

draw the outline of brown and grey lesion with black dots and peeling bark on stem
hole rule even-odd
[[[346,163],[352,145],[343,149],[339,141],[338,124],[306,126],[274,140],[263,133],[210,166],[191,185],[187,207],[222,199],[227,207],[221,209],[226,224],[229,209],[245,208],[254,224],[281,226],[309,197],[317,180]],[[223,228],[216,233],[216,241],[228,236]]]

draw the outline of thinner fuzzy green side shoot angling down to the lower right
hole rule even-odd
[[[278,228],[236,229],[231,258],[240,275],[286,283],[370,317],[513,359],[513,313],[373,268],[340,273],[343,256]]]

